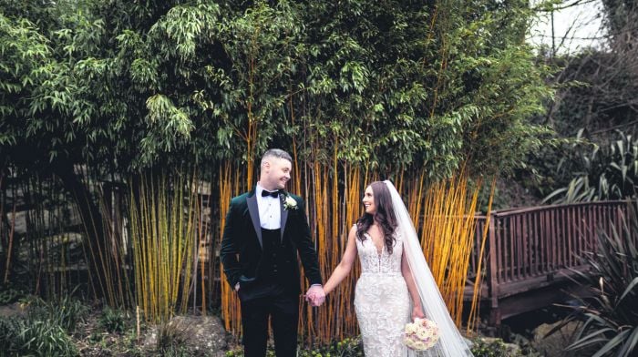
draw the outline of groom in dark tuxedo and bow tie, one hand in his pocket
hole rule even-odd
[[[276,355],[296,355],[301,292],[297,253],[311,284],[306,299],[316,306],[325,297],[304,200],[284,190],[292,167],[287,152],[266,151],[257,185],[233,198],[226,216],[221,263],[242,304],[246,357],[266,355],[269,318]]]

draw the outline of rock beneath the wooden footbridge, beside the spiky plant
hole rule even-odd
[[[550,336],[545,337],[547,332],[560,324],[561,321],[555,323],[543,323],[534,329],[534,339],[531,341],[532,347],[541,355],[547,357],[571,357],[581,355],[581,352],[563,351],[565,347],[571,344],[573,336],[581,325],[580,322],[572,321],[566,324],[559,331],[555,331]]]

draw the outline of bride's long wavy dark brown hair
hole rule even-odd
[[[359,240],[364,241],[365,232],[376,221],[379,227],[381,227],[381,230],[383,230],[383,239],[386,244],[386,250],[391,254],[392,247],[396,240],[395,230],[397,223],[395,209],[392,208],[390,190],[387,189],[386,184],[381,181],[371,183],[370,188],[372,188],[372,194],[375,198],[376,213],[374,216],[369,213],[364,213],[360,219],[356,220],[356,237]]]

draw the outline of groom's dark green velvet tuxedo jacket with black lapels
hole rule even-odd
[[[296,209],[284,208],[286,195],[297,203]],[[321,272],[305,217],[304,200],[290,193],[280,195],[279,199],[282,209],[281,240],[285,249],[278,259],[283,260],[283,265],[293,267],[290,281],[286,279],[280,282],[290,291],[299,294],[301,286],[297,252],[304,264],[305,277],[311,284],[322,283]],[[237,282],[240,287],[249,286],[266,273],[262,269],[261,227],[255,189],[231,200],[221,240],[220,258],[226,280],[233,288]]]

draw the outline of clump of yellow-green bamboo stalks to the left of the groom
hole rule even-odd
[[[148,321],[164,321],[185,311],[190,293],[197,244],[193,227],[199,217],[197,190],[192,189],[197,177],[176,176],[141,176],[139,198],[130,203],[136,300]]]

